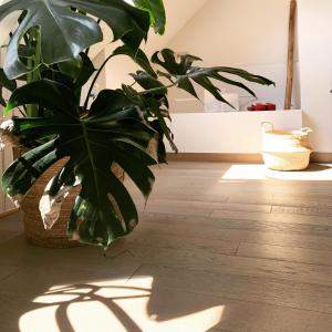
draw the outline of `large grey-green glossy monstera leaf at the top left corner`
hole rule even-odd
[[[84,13],[104,21],[112,29],[114,40],[121,39],[133,49],[147,37],[151,23],[146,11],[123,0],[11,0],[0,7],[0,21],[14,11],[25,14],[7,51],[4,71],[10,79],[28,72],[19,59],[18,48],[32,28],[40,29],[42,61],[52,64],[76,59],[84,49],[102,41],[100,25]]]

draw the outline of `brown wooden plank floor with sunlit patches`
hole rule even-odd
[[[332,331],[332,166],[172,163],[141,224],[98,248],[0,220],[0,331]],[[284,180],[286,178],[287,180]]]

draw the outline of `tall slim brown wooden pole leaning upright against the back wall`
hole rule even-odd
[[[295,17],[297,0],[290,2],[289,32],[288,32],[288,60],[287,60],[287,84],[284,96],[284,110],[291,108],[293,76],[294,76],[294,44],[295,44]]]

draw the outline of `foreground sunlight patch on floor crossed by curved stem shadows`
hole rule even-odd
[[[220,322],[224,305],[167,319],[149,313],[149,301],[157,292],[153,282],[154,278],[147,276],[135,278],[136,286],[121,279],[54,286],[33,299],[37,309],[20,318],[19,329],[21,332],[200,332]],[[170,305],[163,299],[158,301],[162,307]],[[175,299],[169,311],[176,305]]]

